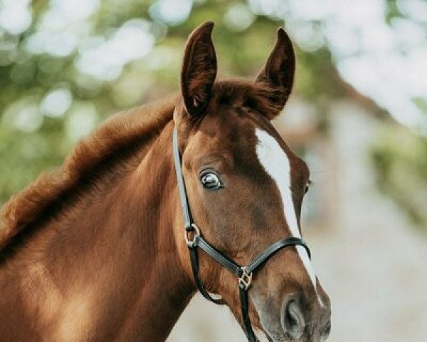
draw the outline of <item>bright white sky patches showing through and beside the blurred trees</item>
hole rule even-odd
[[[29,3],[0,0],[0,29],[14,35],[26,31],[32,20]],[[26,39],[26,49],[53,56],[77,50],[75,66],[81,73],[115,80],[127,63],[152,51],[156,37],[144,19],[127,21],[109,38],[92,36],[90,16],[99,6],[100,0],[51,0],[36,33]],[[192,6],[192,0],[159,0],[149,14],[177,25],[189,17]],[[399,123],[427,135],[427,113],[421,109],[427,108],[427,1],[397,0],[397,6],[407,19],[388,25],[384,0],[248,0],[231,3],[223,21],[238,31],[252,24],[254,14],[285,19],[285,28],[301,48],[328,46],[345,81]],[[46,95],[46,114],[65,113],[68,108],[58,104],[64,99],[71,102],[67,89]]]

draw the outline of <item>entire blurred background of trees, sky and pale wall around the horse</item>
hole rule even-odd
[[[220,78],[255,76],[278,26],[295,43],[275,125],[311,168],[303,230],[330,341],[426,341],[424,0],[0,0],[0,205],[112,113],[178,90],[208,20]],[[168,341],[245,339],[196,296]]]

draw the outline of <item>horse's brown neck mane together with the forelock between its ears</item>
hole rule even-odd
[[[285,96],[282,89],[243,80],[216,82],[213,93],[211,110],[215,111],[221,104],[248,106],[270,119],[274,116],[272,113],[282,109],[277,99]],[[20,234],[31,232],[30,226],[58,212],[61,204],[81,193],[82,187],[96,185],[100,176],[105,175],[102,171],[113,171],[117,175],[120,169],[129,167],[130,156],[137,154],[142,145],[152,141],[172,120],[177,103],[179,96],[173,95],[112,115],[75,146],[60,168],[43,172],[31,185],[11,197],[0,211],[0,252]],[[142,156],[138,157],[137,162]],[[123,161],[127,161],[127,165]]]

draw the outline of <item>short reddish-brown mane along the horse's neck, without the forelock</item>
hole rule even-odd
[[[0,212],[0,251],[26,227],[46,217],[62,199],[73,195],[78,185],[93,182],[93,175],[102,167],[111,170],[135,154],[137,147],[150,142],[172,120],[177,100],[174,95],[112,115],[74,147],[61,167],[43,172],[11,197]]]

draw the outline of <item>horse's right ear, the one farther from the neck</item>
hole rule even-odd
[[[255,82],[265,83],[275,90],[277,96],[274,96],[274,100],[278,101],[278,107],[281,110],[292,91],[294,74],[295,53],[292,48],[292,42],[285,30],[279,28],[273,51]],[[278,115],[280,110],[278,113],[270,113],[272,118]]]

